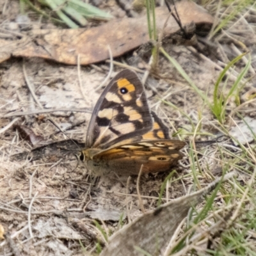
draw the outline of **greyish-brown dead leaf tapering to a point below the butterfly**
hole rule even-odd
[[[236,175],[225,175],[223,181]],[[109,239],[109,244],[100,253],[101,256],[141,255],[136,250],[141,248],[149,255],[161,255],[180,222],[187,216],[189,208],[197,205],[205,195],[216,188],[220,179],[214,180],[206,188],[191,195],[182,196],[168,202],[154,211],[143,214],[116,232]]]

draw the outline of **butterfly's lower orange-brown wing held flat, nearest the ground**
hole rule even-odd
[[[131,143],[95,154],[93,164],[99,166],[98,170],[95,170],[99,175],[106,170],[118,175],[138,175],[142,164],[143,173],[165,172],[183,157],[179,150],[184,145],[184,141],[179,140]]]

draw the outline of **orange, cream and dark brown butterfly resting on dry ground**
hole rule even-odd
[[[182,158],[184,145],[170,140],[168,127],[148,107],[138,75],[125,69],[100,95],[79,159],[94,175],[138,175],[141,166],[142,173],[164,172]]]

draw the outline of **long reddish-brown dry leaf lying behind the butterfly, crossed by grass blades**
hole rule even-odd
[[[208,32],[211,29],[213,17],[201,6],[190,1],[180,1],[176,8],[182,26],[194,22],[200,30],[205,28]],[[158,31],[163,29],[169,15],[166,7],[156,8]],[[179,26],[171,16],[164,28],[164,36],[170,36],[177,31]],[[136,49],[148,40],[145,15],[111,20],[90,29],[40,29],[32,31],[31,36],[24,35],[22,39],[12,43],[0,40],[0,61],[6,60],[12,54],[15,57],[40,57],[75,65],[79,54],[81,65],[88,65],[108,59],[108,45],[115,58]]]

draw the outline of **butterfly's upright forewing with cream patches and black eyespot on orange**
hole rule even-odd
[[[87,148],[108,148],[152,129],[152,115],[137,74],[119,72],[106,86],[93,110],[86,134]]]

